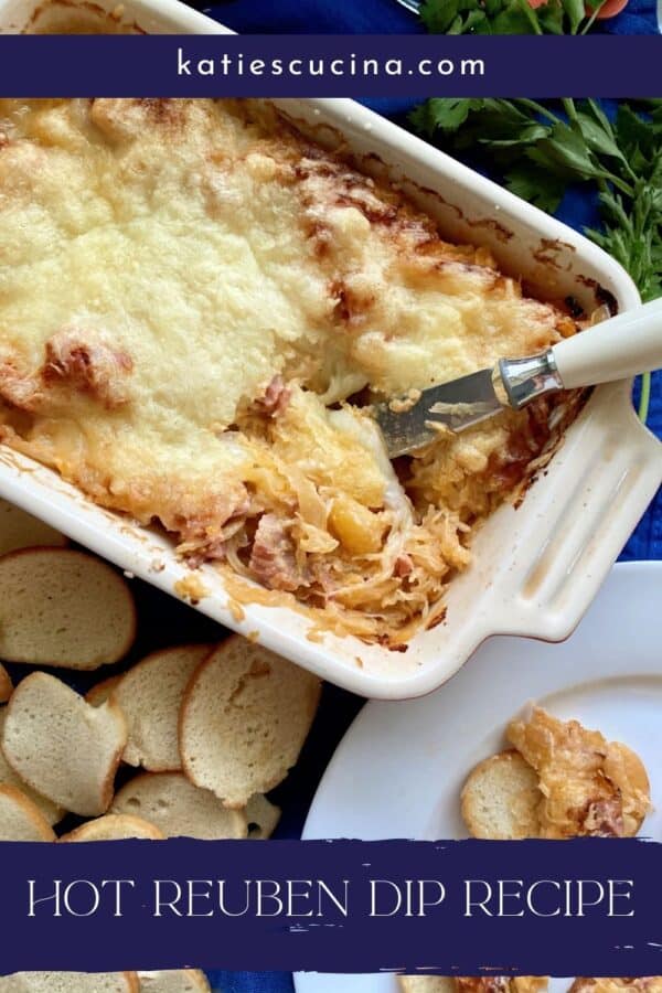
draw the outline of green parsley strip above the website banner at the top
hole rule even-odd
[[[584,0],[424,0],[420,18],[433,34],[586,34],[605,2],[587,12]]]

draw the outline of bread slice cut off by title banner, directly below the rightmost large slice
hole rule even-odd
[[[141,772],[115,797],[111,813],[145,818],[167,837],[246,837],[243,811],[227,810],[182,772]]]

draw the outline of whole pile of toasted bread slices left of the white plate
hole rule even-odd
[[[160,649],[82,695],[72,683],[129,653],[134,596],[4,501],[0,591],[0,841],[271,834],[280,811],[265,794],[297,762],[316,676],[233,636]],[[197,970],[0,978],[0,993],[209,990]]]

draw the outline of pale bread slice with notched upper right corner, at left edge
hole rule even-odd
[[[100,707],[45,672],[33,672],[7,705],[1,747],[33,790],[82,816],[105,813],[127,743],[113,700]]]

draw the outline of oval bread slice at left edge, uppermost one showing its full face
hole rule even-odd
[[[136,633],[127,584],[92,555],[24,548],[0,558],[0,658],[98,669],[117,662]]]

